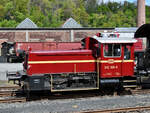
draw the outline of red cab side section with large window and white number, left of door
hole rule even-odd
[[[102,57],[100,59],[100,77],[112,78],[122,75],[122,47],[121,44],[102,44]]]

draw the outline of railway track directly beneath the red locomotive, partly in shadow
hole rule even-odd
[[[137,88],[134,90],[126,90],[122,92],[121,94],[117,94],[116,92],[114,92],[112,94],[106,94],[106,95],[118,96],[118,95],[147,94],[147,93],[150,93],[150,89],[141,90],[140,88]],[[105,95],[101,95],[99,91],[65,92],[65,93],[56,93],[56,94],[51,94],[51,93],[37,94],[36,93],[36,94],[33,94],[33,96],[31,96],[30,99],[26,100],[25,95],[22,94],[22,90],[20,89],[20,87],[18,86],[0,87],[0,103],[9,102],[9,101],[10,102],[26,102],[26,101],[34,101],[34,100],[42,100],[42,99],[53,100],[53,99],[69,99],[69,98],[88,98],[88,97],[98,97],[98,96],[103,97]]]

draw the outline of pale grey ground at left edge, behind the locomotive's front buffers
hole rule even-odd
[[[0,63],[0,80],[7,80],[6,71],[22,70],[22,63]]]

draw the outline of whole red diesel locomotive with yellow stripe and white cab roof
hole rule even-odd
[[[8,73],[8,77],[18,80],[26,91],[92,90],[110,85],[136,87],[135,42],[115,34],[98,34],[83,39],[84,49],[80,50],[29,50],[24,70],[15,76]]]

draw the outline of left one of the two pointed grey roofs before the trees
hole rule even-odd
[[[38,28],[38,27],[29,18],[26,18],[16,28]]]

